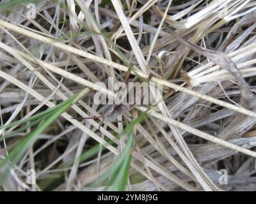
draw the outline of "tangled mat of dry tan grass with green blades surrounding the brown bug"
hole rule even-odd
[[[1,190],[256,190],[255,1],[0,6]],[[126,80],[163,96],[116,122],[93,96]]]

